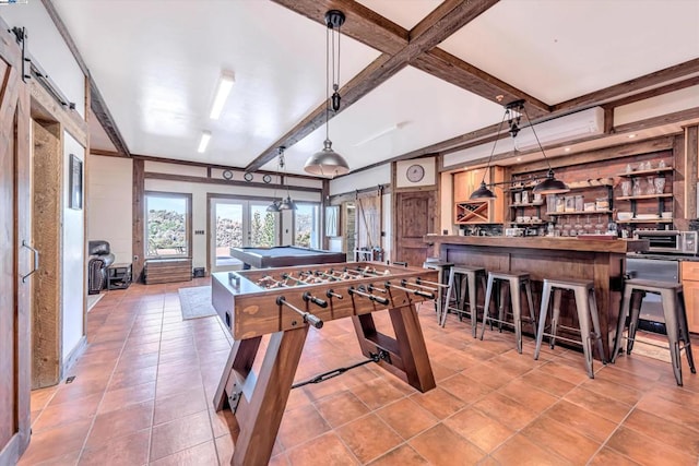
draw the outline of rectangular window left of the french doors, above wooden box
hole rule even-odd
[[[189,256],[191,194],[145,194],[146,258]]]

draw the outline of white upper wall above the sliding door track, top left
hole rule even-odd
[[[85,75],[39,0],[0,7],[10,28],[26,28],[26,50],[50,76],[75,110],[85,117]]]

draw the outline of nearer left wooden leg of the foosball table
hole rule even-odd
[[[248,375],[260,337],[234,344],[214,396],[216,410],[230,405],[240,428],[232,465],[269,463],[307,335],[308,325],[273,333],[257,377]]]

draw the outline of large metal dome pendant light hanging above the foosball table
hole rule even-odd
[[[340,28],[345,22],[345,15],[342,11],[330,10],[325,13],[325,25],[328,26],[325,32],[325,141],[323,142],[323,148],[316,154],[311,155],[304,169],[316,176],[334,178],[337,175],[345,175],[350,171],[350,165],[332,148],[332,141],[330,141],[329,128],[330,128],[330,104],[332,103],[332,111],[340,110]],[[335,29],[337,29],[337,72],[335,74]],[[332,98],[330,97],[330,56],[332,49]]]

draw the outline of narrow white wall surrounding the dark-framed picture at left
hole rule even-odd
[[[63,133],[63,234],[62,238],[62,326],[63,326],[63,360],[76,347],[84,334],[83,297],[85,296],[85,237],[84,237],[84,205],[83,208],[70,208],[70,155],[73,154],[83,162],[85,150],[70,134]],[[84,176],[83,176],[84,179]],[[83,187],[85,186],[83,181]]]

